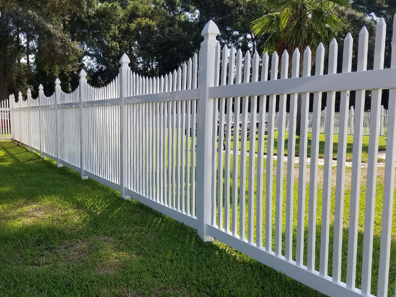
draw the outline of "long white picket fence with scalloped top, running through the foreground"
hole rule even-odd
[[[198,56],[194,55],[173,73],[146,78],[130,70],[129,59],[124,54],[119,75],[111,84],[99,89],[87,84],[86,73],[82,70],[79,87],[71,94],[63,93],[57,80],[52,96],[45,97],[40,87],[38,99],[32,99],[28,91],[27,101],[20,99],[13,104],[12,135],[14,141],[56,160],[59,166],[79,171],[82,178],[93,178],[120,191],[121,197],[137,199],[196,228],[203,240],[216,238],[324,294],[386,297],[390,287],[396,117],[387,120],[383,192],[376,191],[377,155],[382,89],[390,89],[389,112],[396,112],[396,48],[392,49],[392,67],[384,69],[385,32],[385,21],[380,19],[374,70],[367,70],[368,33],[363,28],[358,38],[357,72],[351,72],[353,39],[348,34],[342,53],[342,73],[336,73],[338,45],[333,40],[329,48],[328,74],[323,73],[325,49],[320,44],[315,54],[314,75],[311,76],[311,50],[307,48],[303,53],[303,75],[298,77],[300,53],[296,49],[292,57],[286,51],[283,53],[278,79],[280,58],[276,52],[271,58],[269,72],[267,53],[260,58],[255,52],[251,58],[247,52],[243,58],[241,49],[228,50],[225,46],[221,50],[216,40],[218,28],[209,21],[202,31],[204,41],[199,50],[199,63]],[[396,39],[396,30],[393,36]],[[291,78],[288,77],[290,59]],[[356,103],[352,179],[347,184],[350,201],[346,206],[348,217],[344,217],[350,90],[356,91]],[[367,178],[366,187],[362,189],[365,209],[360,212],[365,90],[372,90],[372,99]],[[323,92],[327,93],[328,109],[322,119]],[[335,120],[337,92],[341,92],[341,106]],[[314,100],[309,119],[310,93]],[[288,122],[287,94],[291,94]],[[300,159],[295,169],[298,94],[302,97],[302,115]],[[287,126],[289,145],[288,156],[278,155],[275,164],[275,106],[278,100],[277,150],[284,150]],[[258,119],[258,128],[256,125],[248,127],[248,104],[251,110],[260,106],[258,115],[252,112],[249,119],[251,122]],[[239,117],[236,121],[242,123],[234,129],[231,128],[231,112],[225,113],[225,110],[232,110],[233,105]],[[323,180],[318,180],[321,122],[324,122],[325,163]],[[309,126],[312,141],[307,178]],[[335,127],[339,138],[334,194]],[[256,142],[248,142],[247,135],[256,134],[256,131],[258,153],[249,154],[247,151],[254,151]],[[264,158],[266,132],[267,156]],[[235,139],[239,135],[241,148],[240,153],[236,153],[239,143],[232,142],[232,137]],[[217,141],[225,143],[220,153]],[[287,161],[286,170],[284,161]],[[316,217],[318,182],[323,183],[320,221]],[[308,205],[305,205],[306,198]],[[335,201],[332,207],[331,199]],[[376,199],[382,201],[383,208],[381,217],[376,218],[376,224],[381,224],[381,242],[376,247],[380,250],[373,251],[374,226],[378,229],[374,223]],[[358,225],[359,216],[364,216],[364,227]],[[344,227],[346,222],[347,228]],[[347,251],[344,252],[343,239],[346,239],[343,234],[347,234]],[[360,245],[358,234],[363,237]],[[320,250],[315,250],[319,240]],[[315,255],[319,253],[320,258],[317,258]],[[373,255],[378,254],[378,275],[372,276]],[[393,270],[391,291],[395,289]]]

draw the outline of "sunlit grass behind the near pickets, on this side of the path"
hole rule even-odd
[[[219,156],[219,155],[218,155]],[[223,158],[225,154],[223,153]],[[241,171],[241,157],[238,156],[239,162],[239,172]],[[233,167],[233,155],[231,159],[231,168]],[[247,169],[246,169],[246,189],[245,189],[245,231],[247,234],[247,226],[248,226],[248,170],[249,170],[249,156],[247,156]],[[257,158],[255,159],[255,171],[257,170]],[[375,216],[374,216],[374,238],[373,238],[373,266],[372,266],[372,286],[371,293],[373,295],[377,294],[377,283],[378,283],[378,269],[379,269],[379,254],[380,254],[380,239],[381,239],[381,223],[382,223],[382,199],[384,195],[384,175],[385,169],[384,167],[379,167],[377,172],[377,187],[376,187],[376,198],[375,198]],[[268,190],[268,187],[265,186],[266,179],[266,159],[264,159],[264,195],[263,195],[263,222],[265,224],[265,192]],[[316,241],[315,241],[315,269],[319,271],[319,263],[320,263],[320,235],[321,235],[321,224],[322,224],[322,198],[323,198],[323,174],[324,174],[323,166],[319,166],[318,174],[316,176],[316,180],[318,181],[318,191],[317,191],[317,207],[316,207]],[[334,217],[335,217],[335,194],[336,194],[336,168],[332,169],[332,194],[331,194],[331,202],[330,202],[330,234],[329,234],[329,259],[328,259],[328,275],[332,275],[332,261],[333,261],[333,237],[334,237]],[[274,180],[272,187],[272,250],[275,248],[275,212],[276,212],[276,161],[274,161]],[[283,183],[283,211],[282,211],[282,254],[285,253],[285,231],[286,231],[286,173],[287,167],[284,166],[284,183]],[[347,253],[348,253],[348,228],[349,228],[349,205],[350,205],[350,184],[351,184],[351,167],[346,168],[346,178],[344,180],[345,183],[345,196],[344,196],[344,213],[343,213],[343,239],[342,239],[342,265],[341,265],[341,280],[346,282],[347,278]],[[356,264],[356,287],[361,288],[361,271],[362,271],[362,254],[363,254],[363,235],[364,235],[364,212],[365,212],[365,200],[366,200],[366,179],[367,179],[367,168],[362,168],[361,173],[361,189],[360,189],[360,198],[359,198],[359,217],[358,217],[358,248],[357,248],[357,264]],[[309,182],[310,182],[310,168],[307,166],[307,185],[306,185],[306,196],[305,196],[305,234],[304,234],[304,265],[307,264],[307,239],[308,239],[308,209],[309,209]],[[231,170],[231,178],[230,178],[230,192],[232,193],[232,179],[233,172]],[[238,177],[238,194],[240,193],[240,180],[241,177]],[[256,180],[254,181],[254,242],[256,242],[256,233],[255,233],[255,215],[256,215]],[[223,183],[225,186],[225,170],[223,168]],[[224,187],[223,186],[223,187]],[[224,200],[225,191],[223,188],[223,217],[224,217]],[[295,184],[294,184],[294,203],[293,203],[293,259],[296,260],[296,245],[297,245],[297,197],[298,197],[298,164],[295,165]],[[396,191],[394,194],[396,197]],[[232,213],[232,197],[230,196],[230,205]],[[240,230],[239,218],[240,218],[240,203],[237,205],[237,213],[238,213],[238,231]],[[391,243],[391,262],[390,262],[390,275],[389,275],[389,296],[395,296],[395,278],[396,278],[396,201],[393,206],[393,224],[392,224],[392,243]],[[218,221],[216,221],[218,224]],[[222,222],[222,227],[224,227],[224,221]],[[232,225],[230,219],[230,226]],[[239,232],[238,232],[239,233]],[[265,227],[263,226],[263,246],[265,243]]]

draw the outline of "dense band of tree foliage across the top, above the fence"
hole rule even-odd
[[[29,87],[37,96],[39,84],[50,94],[56,77],[62,90],[72,91],[82,68],[90,84],[102,86],[118,72],[124,52],[139,74],[168,73],[199,49],[200,32],[210,19],[220,29],[222,44],[244,52],[290,50],[334,36],[341,46],[346,32],[357,38],[362,25],[374,30],[382,16],[391,44],[394,0],[351,0],[340,9],[344,1],[0,0],[0,96],[5,99]],[[286,13],[292,8],[299,12]],[[252,30],[256,19],[265,30]],[[323,26],[323,19],[331,26]],[[282,26],[285,34],[268,34]],[[390,65],[390,48],[386,63]]]

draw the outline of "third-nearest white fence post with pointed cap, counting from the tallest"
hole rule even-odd
[[[84,69],[80,71],[80,81],[79,81],[79,105],[80,105],[80,174],[81,179],[87,179],[84,175],[85,170],[85,94],[87,86],[87,73]]]

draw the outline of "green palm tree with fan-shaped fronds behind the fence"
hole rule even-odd
[[[289,53],[296,48],[303,52],[308,46],[316,49],[321,42],[330,42],[341,30],[341,21],[332,8],[337,4],[347,5],[348,0],[261,0],[261,3],[267,13],[251,23],[251,30],[257,38],[265,38],[263,51],[271,54],[276,50],[282,54],[285,49]],[[302,55],[300,64],[302,66]],[[299,96],[297,135],[300,118]]]

